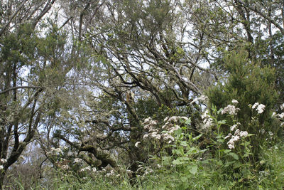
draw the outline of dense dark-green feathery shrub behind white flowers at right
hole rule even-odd
[[[231,104],[231,100],[239,101],[240,110],[237,112],[236,120],[241,122],[240,130],[255,134],[251,137],[251,144],[257,157],[261,145],[266,143],[267,136],[263,135],[263,130],[274,134],[279,130],[279,125],[273,125],[271,118],[272,110],[278,102],[278,93],[274,88],[275,71],[268,66],[262,68],[258,62],[249,60],[245,51],[229,53],[224,57],[223,63],[227,78],[207,90],[209,105],[215,105],[219,110]],[[266,106],[261,115],[248,106],[256,102]],[[256,116],[258,122],[253,122],[251,119]],[[218,117],[233,125],[229,115]],[[221,130],[227,134],[229,127],[222,126]]]

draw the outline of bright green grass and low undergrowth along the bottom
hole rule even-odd
[[[90,175],[80,179],[72,174],[54,172],[50,181],[35,181],[29,189],[283,189],[283,154],[283,143],[263,149],[259,163],[262,164],[262,170],[249,170],[250,175],[244,180],[237,180],[234,174],[226,174],[226,171],[214,164],[216,160],[209,159],[188,162],[182,167],[155,168],[151,173],[134,179],[130,179],[127,174]],[[197,164],[197,170],[190,172],[194,164]],[[26,188],[21,179],[14,180],[14,188]]]

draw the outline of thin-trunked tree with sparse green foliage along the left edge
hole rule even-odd
[[[7,169],[43,125],[47,102],[53,102],[72,68],[64,54],[66,34],[52,23],[50,28],[38,26],[48,31],[46,36],[38,31],[37,24],[54,2],[1,1],[5,15],[0,32],[1,186]]]

